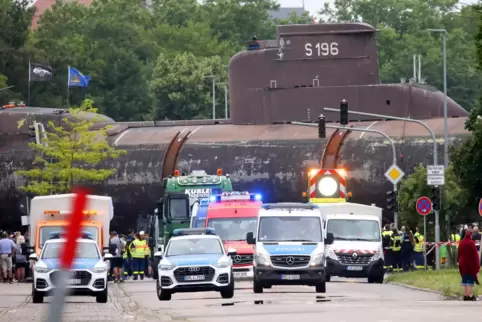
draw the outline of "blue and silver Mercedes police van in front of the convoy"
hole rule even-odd
[[[255,233],[246,235],[248,244],[255,245],[254,293],[272,285],[308,285],[326,292],[325,245],[333,242],[333,235],[324,238],[317,205],[264,204]]]

